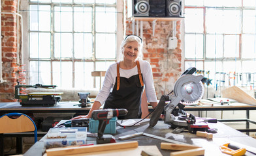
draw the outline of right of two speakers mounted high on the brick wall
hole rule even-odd
[[[166,0],[167,17],[182,17],[182,0]]]

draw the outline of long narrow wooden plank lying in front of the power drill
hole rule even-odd
[[[67,147],[67,148],[52,148],[46,149],[47,156],[58,156],[58,155],[72,155],[79,153],[89,153],[95,151],[109,151],[114,149],[125,149],[125,148],[137,148],[138,142],[116,142],[109,144],[98,144],[92,146],[80,146],[80,147]]]

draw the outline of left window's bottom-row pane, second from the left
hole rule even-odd
[[[53,83],[58,88],[72,88],[72,62],[53,62]]]

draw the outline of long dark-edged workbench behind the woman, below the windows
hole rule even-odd
[[[211,101],[209,101],[211,102]],[[212,102],[214,103],[214,102]],[[0,116],[10,112],[20,112],[20,113],[65,113],[74,112],[78,114],[88,114],[91,107],[79,107],[78,101],[61,101],[52,107],[42,107],[42,106],[22,106],[18,102],[11,103],[0,103]],[[75,106],[74,106],[75,105]],[[152,107],[149,106],[150,111]],[[256,124],[255,121],[249,119],[249,110],[256,110],[256,105],[249,105],[245,103],[231,103],[230,105],[221,105],[220,103],[214,103],[212,105],[186,105],[184,107],[185,111],[216,111],[216,110],[246,110],[246,118],[244,119],[232,119],[232,120],[219,120],[220,122],[246,122],[246,129],[238,129],[241,132],[256,132],[256,129],[250,129],[249,123]],[[174,115],[177,116],[178,109],[173,111]],[[199,116],[200,117],[200,116]]]

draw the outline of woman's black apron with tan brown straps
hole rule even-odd
[[[136,61],[138,74],[129,77],[120,77],[119,63],[117,62],[116,84],[112,92],[108,95],[103,109],[127,109],[126,116],[120,116],[119,119],[140,118],[140,103],[142,91],[144,88],[142,73],[140,72],[140,63]]]

